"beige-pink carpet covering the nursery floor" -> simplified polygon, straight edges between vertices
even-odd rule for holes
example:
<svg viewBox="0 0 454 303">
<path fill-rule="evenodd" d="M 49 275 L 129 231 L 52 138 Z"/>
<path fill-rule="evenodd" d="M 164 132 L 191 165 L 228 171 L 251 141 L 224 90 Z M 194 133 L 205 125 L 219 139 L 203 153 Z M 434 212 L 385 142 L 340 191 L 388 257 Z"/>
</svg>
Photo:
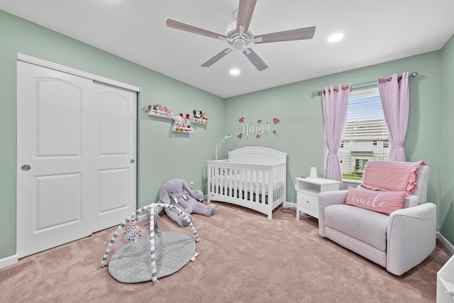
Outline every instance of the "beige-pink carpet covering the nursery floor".
<svg viewBox="0 0 454 303">
<path fill-rule="evenodd" d="M 122 284 L 100 267 L 109 228 L 0 270 L 0 302 L 435 302 L 436 272 L 451 255 L 437 243 L 396 277 L 321 238 L 314 218 L 216 204 L 214 216 L 194 215 L 199 257 L 157 285 Z M 192 234 L 167 216 L 160 228 Z"/>
</svg>

